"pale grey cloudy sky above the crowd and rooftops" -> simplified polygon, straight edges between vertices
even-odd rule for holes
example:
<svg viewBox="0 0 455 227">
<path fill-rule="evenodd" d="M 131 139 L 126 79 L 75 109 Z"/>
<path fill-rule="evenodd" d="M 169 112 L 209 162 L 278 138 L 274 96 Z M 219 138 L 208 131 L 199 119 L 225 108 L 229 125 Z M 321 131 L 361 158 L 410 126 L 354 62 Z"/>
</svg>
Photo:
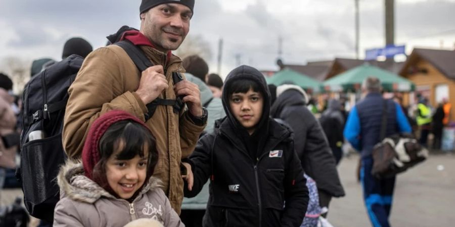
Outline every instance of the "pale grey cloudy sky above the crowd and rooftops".
<svg viewBox="0 0 455 227">
<path fill-rule="evenodd" d="M 73 36 L 97 48 L 122 25 L 139 28 L 140 0 L 0 0 L 0 61 L 61 59 Z M 384 1 L 359 0 L 360 52 L 382 47 Z M 223 76 L 240 63 L 275 70 L 280 37 L 287 64 L 354 58 L 354 0 L 196 0 L 189 36 L 210 45 L 216 71 L 217 43 L 223 39 Z M 395 42 L 455 46 L 455 0 L 395 0 Z M 1 64 L 0 64 L 1 66 Z M 1 70 L 1 68 L 0 68 Z"/>
</svg>

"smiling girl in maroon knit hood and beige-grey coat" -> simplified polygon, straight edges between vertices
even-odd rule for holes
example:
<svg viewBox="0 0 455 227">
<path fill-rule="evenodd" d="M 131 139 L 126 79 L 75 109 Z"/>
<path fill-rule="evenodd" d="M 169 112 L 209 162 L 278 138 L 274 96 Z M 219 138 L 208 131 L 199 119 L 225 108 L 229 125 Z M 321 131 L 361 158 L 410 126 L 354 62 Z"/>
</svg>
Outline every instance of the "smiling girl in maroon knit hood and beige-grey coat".
<svg viewBox="0 0 455 227">
<path fill-rule="evenodd" d="M 155 138 L 141 120 L 105 113 L 88 132 L 82 163 L 68 161 L 60 170 L 54 226 L 122 227 L 138 218 L 185 226 L 152 177 L 157 161 Z"/>
</svg>

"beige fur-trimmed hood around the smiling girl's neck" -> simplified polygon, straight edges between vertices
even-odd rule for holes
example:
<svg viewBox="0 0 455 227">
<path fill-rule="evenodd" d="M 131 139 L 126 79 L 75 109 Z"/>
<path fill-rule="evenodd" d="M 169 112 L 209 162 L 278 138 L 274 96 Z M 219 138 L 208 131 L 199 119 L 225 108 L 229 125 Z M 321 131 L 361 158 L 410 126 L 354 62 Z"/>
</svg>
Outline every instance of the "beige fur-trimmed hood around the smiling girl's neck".
<svg viewBox="0 0 455 227">
<path fill-rule="evenodd" d="M 57 183 L 60 187 L 60 197 L 69 197 L 72 200 L 95 203 L 101 197 L 116 199 L 115 196 L 104 190 L 94 181 L 84 176 L 84 169 L 80 160 L 69 160 L 60 168 L 57 177 Z M 161 181 L 158 178 L 150 177 L 148 183 L 142 188 L 136 196 L 140 198 L 148 191 L 161 187 Z"/>
</svg>

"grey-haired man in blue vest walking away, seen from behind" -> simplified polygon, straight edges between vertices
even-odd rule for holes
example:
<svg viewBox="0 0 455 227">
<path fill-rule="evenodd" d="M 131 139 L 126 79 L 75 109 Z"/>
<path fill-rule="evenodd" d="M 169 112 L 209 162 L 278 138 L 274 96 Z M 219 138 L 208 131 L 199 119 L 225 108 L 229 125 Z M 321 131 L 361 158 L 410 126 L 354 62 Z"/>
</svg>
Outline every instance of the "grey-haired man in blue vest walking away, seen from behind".
<svg viewBox="0 0 455 227">
<path fill-rule="evenodd" d="M 411 132 L 401 107 L 391 99 L 384 99 L 381 94 L 381 81 L 368 77 L 362 83 L 365 97 L 350 111 L 344 137 L 361 153 L 360 181 L 363 187 L 363 200 L 373 226 L 390 226 L 389 215 L 392 205 L 395 177 L 377 179 L 371 174 L 373 167 L 372 150 L 380 142 L 381 120 L 384 108 L 387 108 L 387 126 L 385 136 L 397 132 Z"/>
</svg>

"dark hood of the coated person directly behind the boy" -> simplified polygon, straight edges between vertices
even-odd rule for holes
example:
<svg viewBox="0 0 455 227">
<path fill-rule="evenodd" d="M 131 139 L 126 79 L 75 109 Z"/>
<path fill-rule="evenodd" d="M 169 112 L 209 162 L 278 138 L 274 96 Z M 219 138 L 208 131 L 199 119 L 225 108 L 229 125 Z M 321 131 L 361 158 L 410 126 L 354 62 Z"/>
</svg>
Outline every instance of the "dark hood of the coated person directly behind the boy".
<svg viewBox="0 0 455 227">
<path fill-rule="evenodd" d="M 292 105 L 306 105 L 304 95 L 295 89 L 286 90 L 283 94 L 278 96 L 274 105 L 271 107 L 270 116 L 272 118 L 279 118 L 283 108 Z"/>
</svg>

